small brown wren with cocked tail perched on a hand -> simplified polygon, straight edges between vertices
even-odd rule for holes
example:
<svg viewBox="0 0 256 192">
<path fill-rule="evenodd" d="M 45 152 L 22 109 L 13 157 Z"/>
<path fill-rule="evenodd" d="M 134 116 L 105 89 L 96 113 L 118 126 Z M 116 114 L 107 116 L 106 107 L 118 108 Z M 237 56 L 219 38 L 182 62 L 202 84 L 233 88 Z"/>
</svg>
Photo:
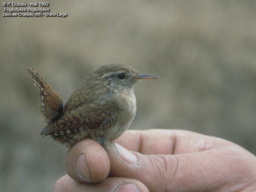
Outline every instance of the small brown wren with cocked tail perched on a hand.
<svg viewBox="0 0 256 192">
<path fill-rule="evenodd" d="M 104 65 L 84 79 L 63 107 L 59 93 L 35 69 L 28 68 L 28 75 L 41 96 L 39 106 L 46 127 L 40 135 L 51 135 L 67 147 L 91 138 L 105 149 L 132 123 L 136 113 L 135 82 L 160 78 L 140 74 L 128 65 Z"/>
</svg>

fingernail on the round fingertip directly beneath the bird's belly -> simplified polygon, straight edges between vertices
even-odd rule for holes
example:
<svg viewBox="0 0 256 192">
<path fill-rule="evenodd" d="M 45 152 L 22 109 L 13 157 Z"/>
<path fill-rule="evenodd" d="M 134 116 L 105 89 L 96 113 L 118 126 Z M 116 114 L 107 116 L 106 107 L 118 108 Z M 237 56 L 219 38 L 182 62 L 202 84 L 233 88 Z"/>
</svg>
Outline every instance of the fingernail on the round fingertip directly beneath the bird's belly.
<svg viewBox="0 0 256 192">
<path fill-rule="evenodd" d="M 89 167 L 85 158 L 84 153 L 81 153 L 76 159 L 76 169 L 78 174 L 87 181 L 91 181 L 91 175 Z"/>
</svg>

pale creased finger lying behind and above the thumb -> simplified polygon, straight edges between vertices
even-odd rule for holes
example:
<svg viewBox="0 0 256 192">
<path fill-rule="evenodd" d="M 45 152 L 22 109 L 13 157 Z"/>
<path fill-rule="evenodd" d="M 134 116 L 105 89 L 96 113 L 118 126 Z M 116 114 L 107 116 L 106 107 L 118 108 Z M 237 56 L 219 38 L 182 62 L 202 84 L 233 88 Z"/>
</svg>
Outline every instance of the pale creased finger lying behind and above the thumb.
<svg viewBox="0 0 256 192">
<path fill-rule="evenodd" d="M 124 148 L 144 155 L 173 155 L 208 150 L 234 143 L 186 130 L 128 130 L 115 140 Z"/>
</svg>

